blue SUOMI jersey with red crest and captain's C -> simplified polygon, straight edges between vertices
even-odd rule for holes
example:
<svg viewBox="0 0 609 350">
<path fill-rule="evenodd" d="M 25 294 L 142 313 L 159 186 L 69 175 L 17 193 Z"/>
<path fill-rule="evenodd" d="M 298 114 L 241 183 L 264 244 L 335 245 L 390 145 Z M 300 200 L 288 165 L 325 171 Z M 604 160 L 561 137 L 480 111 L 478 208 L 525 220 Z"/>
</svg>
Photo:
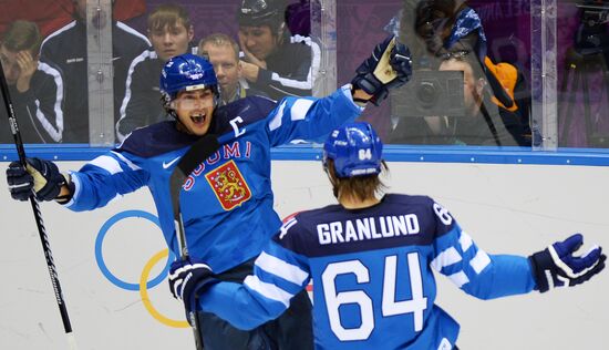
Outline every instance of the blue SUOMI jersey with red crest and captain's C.
<svg viewBox="0 0 609 350">
<path fill-rule="evenodd" d="M 188 176 L 180 193 L 190 256 L 216 272 L 258 256 L 281 226 L 272 209 L 270 148 L 291 140 L 322 142 L 361 111 L 349 85 L 323 99 L 276 103 L 248 96 L 217 107 L 209 132 L 219 135 L 220 147 Z M 117 148 L 71 173 L 75 192 L 66 206 L 90 210 L 147 186 L 167 245 L 179 256 L 169 176 L 196 138 L 178 132 L 175 122 L 135 130 Z"/>
</svg>

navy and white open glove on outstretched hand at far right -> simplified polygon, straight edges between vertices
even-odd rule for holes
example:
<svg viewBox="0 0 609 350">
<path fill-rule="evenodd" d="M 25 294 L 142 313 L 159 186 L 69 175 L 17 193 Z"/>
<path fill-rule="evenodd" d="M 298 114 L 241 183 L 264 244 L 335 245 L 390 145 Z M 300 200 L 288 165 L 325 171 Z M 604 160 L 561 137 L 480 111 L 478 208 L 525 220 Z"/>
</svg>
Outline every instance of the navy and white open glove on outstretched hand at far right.
<svg viewBox="0 0 609 350">
<path fill-rule="evenodd" d="M 605 268 L 607 256 L 599 246 L 592 247 L 584 256 L 574 256 L 582 244 L 584 237 L 576 234 L 529 257 L 540 292 L 582 284 Z"/>
</svg>

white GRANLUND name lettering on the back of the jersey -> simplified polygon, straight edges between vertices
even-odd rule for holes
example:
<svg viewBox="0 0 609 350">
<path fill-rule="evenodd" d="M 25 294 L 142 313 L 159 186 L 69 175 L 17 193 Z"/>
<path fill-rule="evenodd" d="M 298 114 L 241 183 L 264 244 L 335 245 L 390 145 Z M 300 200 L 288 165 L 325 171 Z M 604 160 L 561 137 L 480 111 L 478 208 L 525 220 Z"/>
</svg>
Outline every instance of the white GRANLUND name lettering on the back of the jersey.
<svg viewBox="0 0 609 350">
<path fill-rule="evenodd" d="M 414 214 L 365 217 L 317 225 L 320 245 L 416 235 L 420 229 L 419 218 Z"/>
</svg>

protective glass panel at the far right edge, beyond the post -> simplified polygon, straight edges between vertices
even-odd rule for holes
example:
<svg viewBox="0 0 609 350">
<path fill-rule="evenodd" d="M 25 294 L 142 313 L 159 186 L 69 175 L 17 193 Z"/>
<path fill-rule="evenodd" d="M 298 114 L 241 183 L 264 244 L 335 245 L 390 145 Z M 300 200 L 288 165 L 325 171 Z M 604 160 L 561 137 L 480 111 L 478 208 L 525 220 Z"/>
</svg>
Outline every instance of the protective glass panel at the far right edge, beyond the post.
<svg viewBox="0 0 609 350">
<path fill-rule="evenodd" d="M 558 145 L 609 147 L 609 1 L 557 1 Z"/>
</svg>

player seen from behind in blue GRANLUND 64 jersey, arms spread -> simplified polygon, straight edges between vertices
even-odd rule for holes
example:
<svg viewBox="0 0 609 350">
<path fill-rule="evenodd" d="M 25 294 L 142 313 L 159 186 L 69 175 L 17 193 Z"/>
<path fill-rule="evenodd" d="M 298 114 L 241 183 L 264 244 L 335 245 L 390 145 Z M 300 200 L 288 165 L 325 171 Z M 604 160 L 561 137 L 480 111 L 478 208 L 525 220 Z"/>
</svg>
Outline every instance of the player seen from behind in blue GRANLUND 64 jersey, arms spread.
<svg viewBox="0 0 609 350">
<path fill-rule="evenodd" d="M 174 262 L 174 296 L 250 329 L 281 315 L 312 280 L 316 349 L 448 350 L 456 348 L 460 326 L 434 303 L 433 271 L 493 299 L 575 286 L 605 267 L 600 247 L 574 255 L 581 235 L 528 258 L 489 255 L 432 198 L 379 199 L 382 147 L 370 124 L 333 131 L 323 167 L 339 204 L 288 219 L 242 285 L 218 281 L 204 260 Z"/>
</svg>

